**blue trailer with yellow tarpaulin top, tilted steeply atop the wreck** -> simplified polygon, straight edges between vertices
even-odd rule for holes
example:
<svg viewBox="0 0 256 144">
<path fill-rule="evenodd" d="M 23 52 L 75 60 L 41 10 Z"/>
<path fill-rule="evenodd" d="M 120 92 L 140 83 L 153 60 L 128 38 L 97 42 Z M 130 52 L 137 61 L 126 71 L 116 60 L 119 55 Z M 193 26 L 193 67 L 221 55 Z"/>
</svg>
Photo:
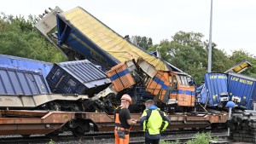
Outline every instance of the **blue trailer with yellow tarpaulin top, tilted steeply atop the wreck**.
<svg viewBox="0 0 256 144">
<path fill-rule="evenodd" d="M 80 7 L 57 14 L 57 29 L 59 45 L 65 43 L 70 49 L 105 66 L 142 57 L 157 70 L 170 69 L 163 60 L 125 40 Z"/>
</svg>

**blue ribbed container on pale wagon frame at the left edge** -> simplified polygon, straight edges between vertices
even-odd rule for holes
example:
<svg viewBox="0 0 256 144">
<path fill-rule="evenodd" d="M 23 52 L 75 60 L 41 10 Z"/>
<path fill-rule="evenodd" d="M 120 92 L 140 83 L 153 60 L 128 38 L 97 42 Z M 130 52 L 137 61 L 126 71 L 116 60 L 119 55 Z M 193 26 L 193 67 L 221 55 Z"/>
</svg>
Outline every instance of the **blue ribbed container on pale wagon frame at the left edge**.
<svg viewBox="0 0 256 144">
<path fill-rule="evenodd" d="M 10 57 L 10 56 L 8 56 Z M 3 58 L 2 58 L 3 59 Z M 21 59 L 21 58 L 20 58 Z M 26 59 L 25 59 L 26 60 Z M 71 101 L 74 106 L 82 107 L 79 100 L 88 100 L 88 95 L 52 94 L 49 85 L 38 68 L 44 64 L 28 60 L 26 64 L 34 64 L 33 69 L 23 67 L 24 61 L 5 59 L 6 65 L 0 65 L 0 108 L 1 109 L 60 109 L 56 101 Z M 3 62 L 3 61 L 1 61 Z M 15 65 L 15 66 L 14 66 Z M 63 109 L 63 108 L 62 108 Z M 79 108 L 77 108 L 79 109 Z M 60 109 L 61 110 L 61 109 Z"/>
</svg>

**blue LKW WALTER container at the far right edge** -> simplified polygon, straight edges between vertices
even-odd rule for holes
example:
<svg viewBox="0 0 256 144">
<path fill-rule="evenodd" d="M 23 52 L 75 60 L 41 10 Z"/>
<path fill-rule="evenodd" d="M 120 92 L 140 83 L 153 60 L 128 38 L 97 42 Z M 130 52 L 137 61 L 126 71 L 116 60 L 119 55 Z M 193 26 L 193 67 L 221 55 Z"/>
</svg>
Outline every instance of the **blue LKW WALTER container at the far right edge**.
<svg viewBox="0 0 256 144">
<path fill-rule="evenodd" d="M 228 89 L 230 100 L 236 103 L 236 107 L 253 109 L 253 102 L 256 101 L 256 78 L 229 72 Z"/>
</svg>

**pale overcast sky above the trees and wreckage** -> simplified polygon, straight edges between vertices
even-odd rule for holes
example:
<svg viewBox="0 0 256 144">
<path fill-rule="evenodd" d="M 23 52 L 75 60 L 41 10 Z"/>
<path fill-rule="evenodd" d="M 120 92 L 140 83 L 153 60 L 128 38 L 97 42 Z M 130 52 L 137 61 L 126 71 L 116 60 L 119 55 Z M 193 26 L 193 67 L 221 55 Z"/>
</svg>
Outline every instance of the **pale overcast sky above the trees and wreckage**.
<svg viewBox="0 0 256 144">
<path fill-rule="evenodd" d="M 82 7 L 121 36 L 171 40 L 178 31 L 201 32 L 209 39 L 211 0 L 0 0 L 0 11 L 38 15 L 59 6 Z M 212 42 L 231 54 L 244 49 L 256 55 L 256 0 L 213 0 Z M 204 39 L 204 40 L 205 40 Z"/>
</svg>

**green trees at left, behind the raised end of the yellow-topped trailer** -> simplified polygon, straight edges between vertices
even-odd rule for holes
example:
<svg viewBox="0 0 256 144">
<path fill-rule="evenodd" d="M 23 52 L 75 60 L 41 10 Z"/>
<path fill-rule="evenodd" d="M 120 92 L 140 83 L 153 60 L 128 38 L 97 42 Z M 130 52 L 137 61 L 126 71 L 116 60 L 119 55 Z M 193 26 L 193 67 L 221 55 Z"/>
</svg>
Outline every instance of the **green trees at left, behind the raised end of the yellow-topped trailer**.
<svg viewBox="0 0 256 144">
<path fill-rule="evenodd" d="M 51 43 L 33 27 L 35 20 L 22 16 L 1 14 L 0 16 L 0 54 L 15 55 L 49 62 L 61 62 L 61 55 Z"/>
</svg>

